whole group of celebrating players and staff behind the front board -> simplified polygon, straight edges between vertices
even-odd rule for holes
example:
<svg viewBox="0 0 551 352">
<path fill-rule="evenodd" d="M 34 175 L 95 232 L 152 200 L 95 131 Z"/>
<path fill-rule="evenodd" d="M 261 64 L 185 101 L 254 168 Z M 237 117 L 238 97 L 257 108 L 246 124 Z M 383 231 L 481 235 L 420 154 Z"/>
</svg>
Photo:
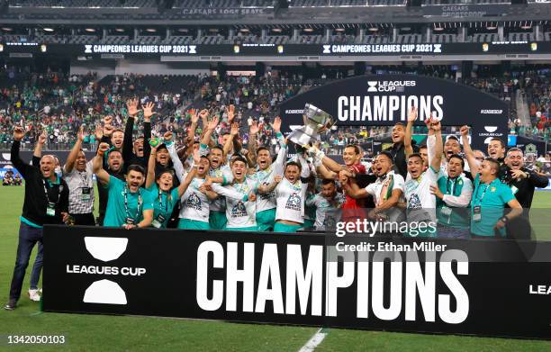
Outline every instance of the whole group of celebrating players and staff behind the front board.
<svg viewBox="0 0 551 352">
<path fill-rule="evenodd" d="M 40 300 L 42 228 L 46 224 L 88 225 L 136 229 L 231 230 L 297 232 L 335 229 L 338 222 L 357 220 L 436 224 L 419 234 L 448 239 L 530 239 L 528 209 L 534 190 L 545 187 L 546 176 L 524 167 L 521 149 L 507 150 L 492 139 L 486 151 L 473 150 L 469 128 L 444 140 L 441 124 L 430 116 L 426 144 L 417 148 L 412 128 L 415 107 L 407 124 L 393 126 L 393 146 L 380 152 L 369 167 L 363 151 L 348 145 L 344 164 L 325 155 L 316 143 L 294 145 L 281 133 L 282 121 L 271 126 L 277 148 L 259 145 L 257 122 L 249 124 L 243 148 L 235 108 L 226 109 L 230 131 L 213 138 L 219 117 L 208 110 L 194 113 L 185 140 L 169 130 L 152 136 L 154 104 L 127 102 L 124 131 L 104 117 L 95 158 L 82 150 L 85 133 L 65 164 L 42 155 L 46 137 L 36 143 L 32 165 L 20 158 L 26 133 L 14 128 L 11 160 L 25 181 L 19 245 L 10 300 L 13 310 L 23 287 L 32 248 L 38 255 L 29 295 Z M 143 136 L 133 139 L 139 114 Z M 199 126 L 201 125 L 201 133 Z M 292 156 L 292 158 L 289 158 Z M 94 216 L 94 176 L 99 217 Z M 395 234 L 394 234 L 395 235 Z M 208 233 L 205 233 L 208 236 Z"/>
</svg>

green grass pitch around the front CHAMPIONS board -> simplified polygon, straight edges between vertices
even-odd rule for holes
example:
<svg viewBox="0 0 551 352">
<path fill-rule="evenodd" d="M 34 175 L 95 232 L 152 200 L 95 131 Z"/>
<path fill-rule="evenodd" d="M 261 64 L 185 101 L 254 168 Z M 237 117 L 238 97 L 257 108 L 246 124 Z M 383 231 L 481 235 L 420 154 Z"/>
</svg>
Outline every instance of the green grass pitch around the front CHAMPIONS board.
<svg viewBox="0 0 551 352">
<path fill-rule="evenodd" d="M 18 218 L 23 187 L 0 187 L 0 303 L 8 299 L 14 270 Z M 551 192 L 535 195 L 534 207 L 551 208 Z M 545 224 L 543 224 L 545 225 Z M 543 226 L 542 225 L 542 226 Z M 551 228 L 549 228 L 551 229 Z M 545 229 L 542 227 L 539 232 Z M 547 231 L 546 231 L 547 232 Z M 547 239 L 551 239 L 548 231 Z M 538 239 L 542 239 L 538 233 Z M 33 259 L 32 259 L 33 260 Z M 29 267 L 31 267 L 30 265 Z M 176 320 L 40 313 L 39 305 L 23 296 L 15 311 L 0 310 L 0 350 L 179 350 L 179 351 L 298 351 L 317 328 L 236 324 L 221 321 Z M 549 351 L 551 342 L 508 338 L 329 329 L 316 351 Z M 50 347 L 2 345 L 6 334 L 65 335 L 67 343 Z M 4 336 L 3 336 L 4 335 Z"/>
</svg>

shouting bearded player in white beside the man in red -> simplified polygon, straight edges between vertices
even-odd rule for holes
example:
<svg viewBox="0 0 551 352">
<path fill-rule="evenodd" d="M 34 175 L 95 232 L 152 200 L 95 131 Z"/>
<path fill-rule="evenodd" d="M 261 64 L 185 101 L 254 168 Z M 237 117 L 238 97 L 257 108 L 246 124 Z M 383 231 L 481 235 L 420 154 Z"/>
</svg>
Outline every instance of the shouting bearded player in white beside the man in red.
<svg viewBox="0 0 551 352">
<path fill-rule="evenodd" d="M 403 202 L 403 177 L 393 170 L 393 156 L 388 151 L 383 151 L 376 156 L 373 170 L 377 180 L 359 188 L 356 185 L 343 183 L 343 188 L 352 198 L 374 197 L 375 208 L 369 212 L 369 218 L 400 222 L 403 220 L 403 212 L 397 205 Z"/>
</svg>

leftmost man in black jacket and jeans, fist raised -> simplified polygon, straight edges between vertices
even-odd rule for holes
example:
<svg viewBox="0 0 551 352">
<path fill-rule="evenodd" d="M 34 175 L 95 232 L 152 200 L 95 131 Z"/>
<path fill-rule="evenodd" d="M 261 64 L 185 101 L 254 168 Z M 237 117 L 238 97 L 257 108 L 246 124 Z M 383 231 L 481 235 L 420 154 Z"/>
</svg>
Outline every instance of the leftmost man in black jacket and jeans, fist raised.
<svg viewBox="0 0 551 352">
<path fill-rule="evenodd" d="M 68 221 L 68 185 L 55 174 L 55 159 L 50 155 L 42 157 L 40 168 L 25 163 L 19 156 L 24 135 L 25 131 L 21 127 L 15 127 L 11 160 L 25 179 L 25 196 L 10 298 L 5 305 L 5 310 L 8 311 L 14 310 L 17 306 L 32 248 L 37 242 L 42 242 L 42 226 Z M 37 262 L 39 257 L 42 257 L 41 247 L 37 253 Z M 37 285 L 42 268 L 41 263 L 37 262 L 33 266 L 32 273 L 36 281 L 31 284 L 31 290 L 35 290 L 33 293 L 38 291 Z"/>
</svg>

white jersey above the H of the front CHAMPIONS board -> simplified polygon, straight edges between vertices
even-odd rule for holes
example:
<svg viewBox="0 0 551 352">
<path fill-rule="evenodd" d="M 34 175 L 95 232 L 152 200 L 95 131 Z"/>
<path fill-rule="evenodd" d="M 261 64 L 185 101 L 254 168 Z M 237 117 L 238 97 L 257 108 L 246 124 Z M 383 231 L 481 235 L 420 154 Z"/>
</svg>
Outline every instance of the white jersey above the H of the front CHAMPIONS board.
<svg viewBox="0 0 551 352">
<path fill-rule="evenodd" d="M 257 204 L 245 201 L 248 194 L 257 192 L 257 183 L 249 178 L 241 184 L 212 184 L 212 191 L 221 194 L 226 199 L 226 227 L 229 229 L 257 226 Z"/>
</svg>

